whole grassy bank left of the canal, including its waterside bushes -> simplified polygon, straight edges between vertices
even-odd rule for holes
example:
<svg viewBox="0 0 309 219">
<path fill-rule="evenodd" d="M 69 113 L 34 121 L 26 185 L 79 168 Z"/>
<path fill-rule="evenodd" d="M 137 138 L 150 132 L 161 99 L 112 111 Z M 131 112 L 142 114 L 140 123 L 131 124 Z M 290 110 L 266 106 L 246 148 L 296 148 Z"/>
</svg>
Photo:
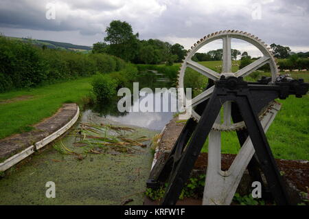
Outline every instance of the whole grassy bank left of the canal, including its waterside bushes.
<svg viewBox="0 0 309 219">
<path fill-rule="evenodd" d="M 32 130 L 31 125 L 56 113 L 63 103 L 74 102 L 82 106 L 89 99 L 106 103 L 109 95 L 116 95 L 117 89 L 132 82 L 136 75 L 137 69 L 128 64 L 121 71 L 0 93 L 0 139 Z M 113 80 L 113 86 L 106 87 L 108 81 L 100 80 L 102 78 Z"/>
</svg>

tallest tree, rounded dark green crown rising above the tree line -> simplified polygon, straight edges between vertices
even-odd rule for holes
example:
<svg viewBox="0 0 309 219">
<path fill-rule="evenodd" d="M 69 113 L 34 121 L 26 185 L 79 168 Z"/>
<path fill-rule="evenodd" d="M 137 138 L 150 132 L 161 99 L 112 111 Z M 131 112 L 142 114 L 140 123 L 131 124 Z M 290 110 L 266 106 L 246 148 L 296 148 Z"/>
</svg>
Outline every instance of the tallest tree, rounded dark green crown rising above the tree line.
<svg viewBox="0 0 309 219">
<path fill-rule="evenodd" d="M 138 36 L 133 34 L 132 27 L 126 21 L 112 21 L 105 30 L 107 36 L 104 41 L 109 43 L 108 54 L 118 56 L 126 61 L 133 60 L 137 54 Z"/>
</svg>

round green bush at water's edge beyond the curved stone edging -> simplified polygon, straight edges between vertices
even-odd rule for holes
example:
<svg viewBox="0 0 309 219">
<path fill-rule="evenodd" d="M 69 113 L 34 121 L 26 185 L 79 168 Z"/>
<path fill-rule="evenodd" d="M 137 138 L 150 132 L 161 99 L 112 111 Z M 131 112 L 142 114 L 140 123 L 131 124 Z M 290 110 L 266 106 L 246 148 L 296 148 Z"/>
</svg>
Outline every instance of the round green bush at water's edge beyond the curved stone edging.
<svg viewBox="0 0 309 219">
<path fill-rule="evenodd" d="M 116 94 L 117 81 L 106 74 L 98 74 L 91 83 L 92 91 L 99 102 L 111 100 Z"/>
</svg>

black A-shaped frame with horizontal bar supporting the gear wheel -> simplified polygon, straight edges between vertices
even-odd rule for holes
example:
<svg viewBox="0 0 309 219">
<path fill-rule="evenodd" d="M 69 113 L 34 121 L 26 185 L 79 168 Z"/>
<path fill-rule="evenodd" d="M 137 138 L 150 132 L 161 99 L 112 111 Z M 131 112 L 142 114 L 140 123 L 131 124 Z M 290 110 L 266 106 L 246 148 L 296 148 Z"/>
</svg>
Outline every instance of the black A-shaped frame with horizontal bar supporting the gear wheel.
<svg viewBox="0 0 309 219">
<path fill-rule="evenodd" d="M 258 83 L 248 83 L 244 82 L 242 78 L 229 77 L 226 79 L 224 76 L 215 82 L 215 89 L 211 98 L 196 106 L 195 111 L 201 115 L 201 119 L 198 123 L 192 118 L 188 119 L 163 168 L 155 178 L 148 179 L 148 187 L 156 187 L 168 181 L 168 187 L 161 200 L 161 205 L 176 204 L 181 189 L 190 177 L 194 163 L 218 113 L 220 113 L 220 108 L 227 101 L 233 102 L 233 122 L 243 120 L 247 126 L 247 130 L 237 132 L 240 145 L 250 136 L 255 148 L 256 158 L 252 159 L 249 165 L 251 174 L 262 180 L 258 172 L 258 168 L 260 168 L 277 205 L 291 204 L 286 192 L 286 185 L 284 185 L 279 174 L 260 124 L 258 113 L 277 97 L 285 99 L 290 94 L 301 97 L 301 95 L 307 93 L 308 84 L 304 83 L 304 80 L 286 79 L 271 85 L 268 85 L 268 83 L 269 78 L 262 78 Z"/>
</svg>

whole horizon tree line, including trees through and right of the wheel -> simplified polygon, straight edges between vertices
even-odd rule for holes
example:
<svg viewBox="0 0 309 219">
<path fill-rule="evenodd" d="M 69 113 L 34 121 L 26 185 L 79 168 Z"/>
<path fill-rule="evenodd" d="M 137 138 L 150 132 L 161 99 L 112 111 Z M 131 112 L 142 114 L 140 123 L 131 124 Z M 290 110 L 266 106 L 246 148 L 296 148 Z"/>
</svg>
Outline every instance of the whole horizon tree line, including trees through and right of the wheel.
<svg viewBox="0 0 309 219">
<path fill-rule="evenodd" d="M 132 26 L 126 21 L 111 21 L 106 27 L 106 37 L 103 42 L 93 44 L 92 52 L 106 53 L 117 56 L 135 64 L 162 64 L 172 65 L 173 62 L 181 62 L 187 54 L 187 50 L 175 43 L 171 45 L 158 39 L 139 40 L 139 34 L 133 33 Z M 271 51 L 276 58 L 289 58 L 294 55 L 289 47 L 271 44 Z M 242 54 L 237 49 L 231 49 L 233 60 L 238 56 L 243 59 L 254 59 L 247 51 Z M 298 53 L 299 58 L 308 58 L 309 52 Z M 207 53 L 196 53 L 192 57 L 196 62 L 222 60 L 222 49 L 208 51 Z M 248 61 L 247 61 L 248 62 Z"/>
</svg>

